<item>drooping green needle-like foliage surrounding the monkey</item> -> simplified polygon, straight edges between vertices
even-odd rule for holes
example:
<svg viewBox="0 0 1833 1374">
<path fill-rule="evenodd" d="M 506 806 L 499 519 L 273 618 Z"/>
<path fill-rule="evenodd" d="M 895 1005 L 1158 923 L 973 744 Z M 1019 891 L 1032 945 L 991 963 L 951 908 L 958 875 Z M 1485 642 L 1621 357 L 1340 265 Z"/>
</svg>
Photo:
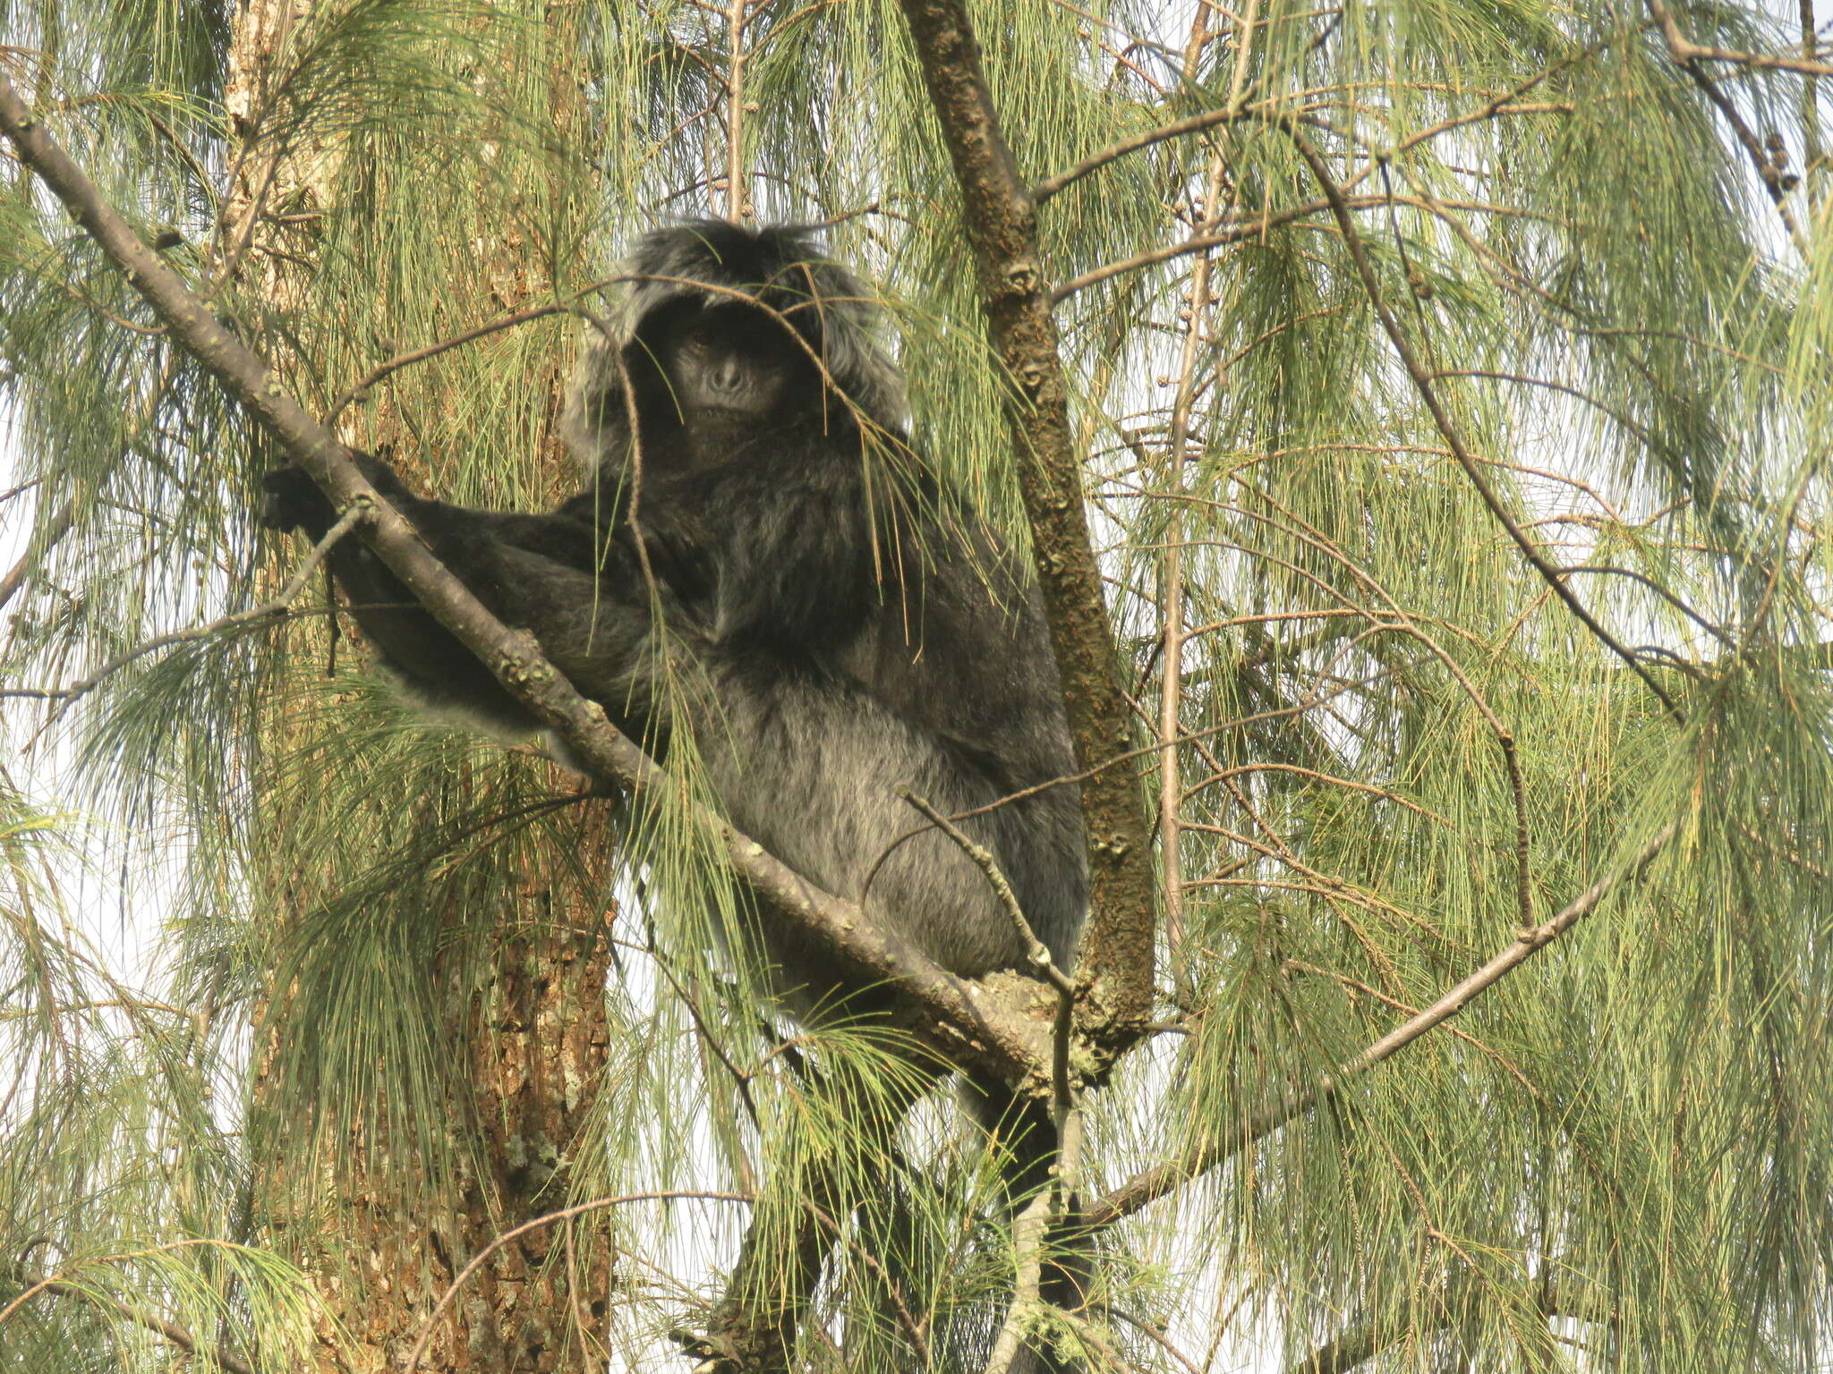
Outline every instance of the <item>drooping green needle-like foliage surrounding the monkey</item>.
<svg viewBox="0 0 1833 1374">
<path fill-rule="evenodd" d="M 1795 15 L 1672 13 L 1699 46 L 1800 55 Z M 737 123 L 750 207 L 830 225 L 896 321 L 915 434 L 1025 548 L 1006 387 L 898 7 L 742 16 L 742 101 L 724 7 L 687 0 L 321 0 L 251 108 L 231 108 L 216 5 L 0 0 L 0 66 L 319 412 L 510 311 L 605 308 L 588 288 L 618 244 L 731 209 Z M 1059 1339 L 1102 1370 L 1824 1367 L 1815 81 L 1688 70 L 1631 4 L 973 18 L 1030 178 L 1234 112 L 1039 207 L 1048 278 L 1091 278 L 1058 321 L 1140 795 L 1157 806 L 1164 768 L 1180 793 L 1162 1022 L 1089 1094 L 1083 1187 L 1223 1156 L 1103 1235 L 1098 1301 Z M 269 170 L 286 194 L 225 229 L 233 187 Z M 1169 253 L 1193 234 L 1217 238 L 1195 297 L 1201 255 Z M 451 500 L 552 502 L 579 328 L 557 310 L 392 372 L 343 432 Z M 572 797 L 528 742 L 414 716 L 334 649 L 317 579 L 290 616 L 114 667 L 258 605 L 302 550 L 253 528 L 268 443 L 16 161 L 0 416 L 24 566 L 0 643 L 0 1369 L 306 1359 L 312 1275 L 249 1200 L 284 1158 L 297 1224 L 339 1141 L 383 1127 L 414 1160 L 405 1200 L 456 1185 L 467 1053 L 438 1002 L 488 976 L 491 932 L 555 918 L 522 901 L 530 870 L 574 911 L 616 909 L 610 1066 L 554 1205 L 647 1198 L 607 1209 L 620 1359 L 667 1367 L 662 1332 L 704 1314 L 746 1216 L 792 1216 L 836 1169 L 871 1202 L 808 1367 L 984 1356 L 1010 1257 L 981 1138 L 884 1028 L 797 1031 L 768 1004 L 691 749 L 667 795 Z M 1448 429 L 1633 663 L 1521 557 Z M 587 819 L 616 837 L 609 876 L 579 854 Z M 1459 1017 L 1340 1072 L 1600 881 L 1595 914 Z M 110 883 L 125 918 L 97 907 Z M 902 1130 L 862 1130 L 862 1096 L 924 1092 Z M 196 1363 L 148 1317 L 198 1334 Z"/>
</svg>

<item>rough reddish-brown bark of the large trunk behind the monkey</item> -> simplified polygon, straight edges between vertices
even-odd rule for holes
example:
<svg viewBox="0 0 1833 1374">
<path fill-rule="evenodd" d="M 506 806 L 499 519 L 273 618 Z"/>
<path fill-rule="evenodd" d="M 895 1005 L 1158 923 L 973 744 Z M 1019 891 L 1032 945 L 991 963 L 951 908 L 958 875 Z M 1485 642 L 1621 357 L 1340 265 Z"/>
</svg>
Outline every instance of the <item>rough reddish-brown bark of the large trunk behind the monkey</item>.
<svg viewBox="0 0 1833 1374">
<path fill-rule="evenodd" d="M 301 269 L 293 264 L 315 256 L 313 216 L 337 213 L 341 150 L 323 143 L 277 145 L 260 119 L 275 64 L 284 60 L 290 37 L 306 18 L 308 5 L 297 0 L 246 4 L 231 37 L 225 92 L 242 145 L 216 266 L 220 273 L 253 275 L 280 308 L 299 300 Z M 264 218 L 275 198 L 297 213 L 286 220 Z M 528 266 L 506 264 L 530 256 L 519 249 L 510 242 L 475 242 L 477 278 L 500 284 L 506 266 Z M 508 275 L 521 299 L 506 304 L 526 304 L 535 295 L 532 277 L 539 273 Z M 559 361 L 544 383 L 559 387 Z M 390 438 L 396 429 L 401 427 L 379 403 L 370 412 L 370 431 Z M 422 471 L 427 458 L 411 443 L 400 443 L 396 456 L 403 467 Z M 302 652 L 321 650 L 315 639 L 293 643 L 302 643 Z M 288 727 L 277 722 L 273 729 Z M 609 854 L 609 848 L 610 835 L 599 821 L 583 837 L 581 852 Z M 566 868 L 557 856 L 548 865 L 552 872 Z M 482 978 L 469 980 L 449 967 L 438 984 L 436 1015 L 445 1042 L 466 1055 L 451 1075 L 447 1119 L 469 1134 L 453 1150 L 458 1169 L 445 1194 L 438 1196 L 427 1180 L 400 1176 L 420 1163 L 401 1147 L 407 1123 L 394 1130 L 379 1119 L 365 1141 L 332 1143 L 343 1149 L 341 1167 L 312 1178 L 306 1193 L 301 1161 L 288 1158 L 284 1138 L 275 1141 L 266 1180 L 275 1240 L 308 1266 L 323 1297 L 326 1319 L 317 1363 L 324 1374 L 396 1369 L 434 1303 L 475 1253 L 568 1198 L 566 1161 L 605 1070 L 607 920 L 539 870 L 528 874 L 519 898 L 504 912 L 488 954 L 473 965 Z M 288 1026 L 284 995 L 275 1009 L 273 1035 L 304 1033 L 306 1028 Z M 262 1085 L 268 1097 L 279 1086 L 266 1077 Z M 257 1112 L 273 1121 L 291 1116 L 277 1101 L 257 1101 Z M 319 1204 L 310 1215 L 299 1209 L 308 1196 Z M 601 1370 L 610 1260 L 603 1215 L 541 1227 L 495 1249 L 462 1299 L 434 1323 L 422 1369 L 433 1374 Z"/>
</svg>

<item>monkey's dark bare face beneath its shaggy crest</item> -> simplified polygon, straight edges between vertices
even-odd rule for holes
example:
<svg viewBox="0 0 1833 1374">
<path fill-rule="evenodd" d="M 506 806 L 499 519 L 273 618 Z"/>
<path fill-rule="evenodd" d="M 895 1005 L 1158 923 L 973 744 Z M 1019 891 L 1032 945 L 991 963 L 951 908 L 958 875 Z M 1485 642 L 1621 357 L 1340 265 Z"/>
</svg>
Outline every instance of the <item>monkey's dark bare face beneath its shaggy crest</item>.
<svg viewBox="0 0 1833 1374">
<path fill-rule="evenodd" d="M 638 333 L 660 372 L 664 410 L 680 423 L 783 423 L 819 398 L 803 343 L 777 319 L 742 304 L 682 300 Z"/>
</svg>

